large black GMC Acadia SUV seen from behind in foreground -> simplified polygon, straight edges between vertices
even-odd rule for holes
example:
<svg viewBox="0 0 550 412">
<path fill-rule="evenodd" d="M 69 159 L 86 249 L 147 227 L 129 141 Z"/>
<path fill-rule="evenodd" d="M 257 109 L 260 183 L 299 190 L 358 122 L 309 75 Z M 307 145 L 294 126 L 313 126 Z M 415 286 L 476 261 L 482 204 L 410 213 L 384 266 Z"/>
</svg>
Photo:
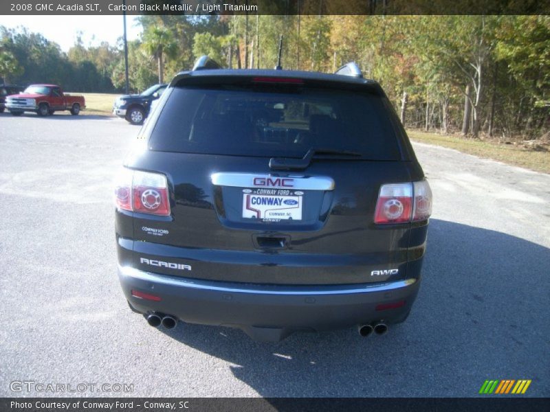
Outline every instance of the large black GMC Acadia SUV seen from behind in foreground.
<svg viewBox="0 0 550 412">
<path fill-rule="evenodd" d="M 404 321 L 432 194 L 377 82 L 219 69 L 170 82 L 115 181 L 118 275 L 150 325 L 295 331 Z"/>
</svg>

